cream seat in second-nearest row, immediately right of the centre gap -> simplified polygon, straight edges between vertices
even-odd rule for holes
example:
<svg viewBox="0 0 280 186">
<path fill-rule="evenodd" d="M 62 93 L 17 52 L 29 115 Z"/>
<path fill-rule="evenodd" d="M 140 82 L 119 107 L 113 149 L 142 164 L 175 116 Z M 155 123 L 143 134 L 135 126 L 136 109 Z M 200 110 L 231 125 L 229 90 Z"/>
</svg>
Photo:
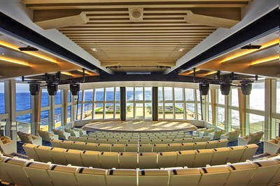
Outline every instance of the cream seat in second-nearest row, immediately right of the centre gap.
<svg viewBox="0 0 280 186">
<path fill-rule="evenodd" d="M 139 169 L 155 169 L 157 160 L 157 153 L 139 153 Z"/>
</svg>

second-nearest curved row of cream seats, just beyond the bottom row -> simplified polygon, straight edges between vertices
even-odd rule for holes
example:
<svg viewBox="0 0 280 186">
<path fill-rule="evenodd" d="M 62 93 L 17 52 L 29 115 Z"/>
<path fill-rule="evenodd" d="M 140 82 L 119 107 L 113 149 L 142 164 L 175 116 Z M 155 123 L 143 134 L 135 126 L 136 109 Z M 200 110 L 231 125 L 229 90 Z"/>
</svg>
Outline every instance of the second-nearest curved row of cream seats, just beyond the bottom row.
<svg viewBox="0 0 280 186">
<path fill-rule="evenodd" d="M 155 169 L 174 166 L 200 167 L 251 160 L 258 146 L 233 146 L 202 150 L 180 150 L 162 153 L 113 153 L 90 150 L 69 150 L 49 146 L 23 145 L 30 159 L 55 164 L 72 164 L 111 169 Z"/>
</svg>

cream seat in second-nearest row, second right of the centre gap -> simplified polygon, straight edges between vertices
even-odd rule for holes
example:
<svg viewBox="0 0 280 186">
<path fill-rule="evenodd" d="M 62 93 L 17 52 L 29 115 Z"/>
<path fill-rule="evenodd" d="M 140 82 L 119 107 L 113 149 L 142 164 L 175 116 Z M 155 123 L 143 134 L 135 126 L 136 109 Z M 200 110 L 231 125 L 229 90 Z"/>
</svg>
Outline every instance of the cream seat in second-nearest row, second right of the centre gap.
<svg viewBox="0 0 280 186">
<path fill-rule="evenodd" d="M 158 153 L 158 168 L 174 167 L 177 162 L 176 152 L 162 152 Z"/>
</svg>

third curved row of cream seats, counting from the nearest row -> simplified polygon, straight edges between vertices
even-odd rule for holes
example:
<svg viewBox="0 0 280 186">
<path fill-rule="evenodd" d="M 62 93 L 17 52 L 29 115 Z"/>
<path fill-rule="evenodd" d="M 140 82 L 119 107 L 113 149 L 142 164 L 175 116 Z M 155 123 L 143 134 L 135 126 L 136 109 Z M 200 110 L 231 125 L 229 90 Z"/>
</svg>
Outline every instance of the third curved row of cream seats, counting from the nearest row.
<svg viewBox="0 0 280 186">
<path fill-rule="evenodd" d="M 50 141 L 52 147 L 76 149 L 76 150 L 94 150 L 100 152 L 134 152 L 134 153 L 160 153 L 179 150 L 197 150 L 197 149 L 211 149 L 228 146 L 228 139 L 195 142 L 195 143 L 181 143 L 181 144 L 96 144 L 85 143 L 82 141 L 65 141 L 52 139 Z"/>
</svg>

